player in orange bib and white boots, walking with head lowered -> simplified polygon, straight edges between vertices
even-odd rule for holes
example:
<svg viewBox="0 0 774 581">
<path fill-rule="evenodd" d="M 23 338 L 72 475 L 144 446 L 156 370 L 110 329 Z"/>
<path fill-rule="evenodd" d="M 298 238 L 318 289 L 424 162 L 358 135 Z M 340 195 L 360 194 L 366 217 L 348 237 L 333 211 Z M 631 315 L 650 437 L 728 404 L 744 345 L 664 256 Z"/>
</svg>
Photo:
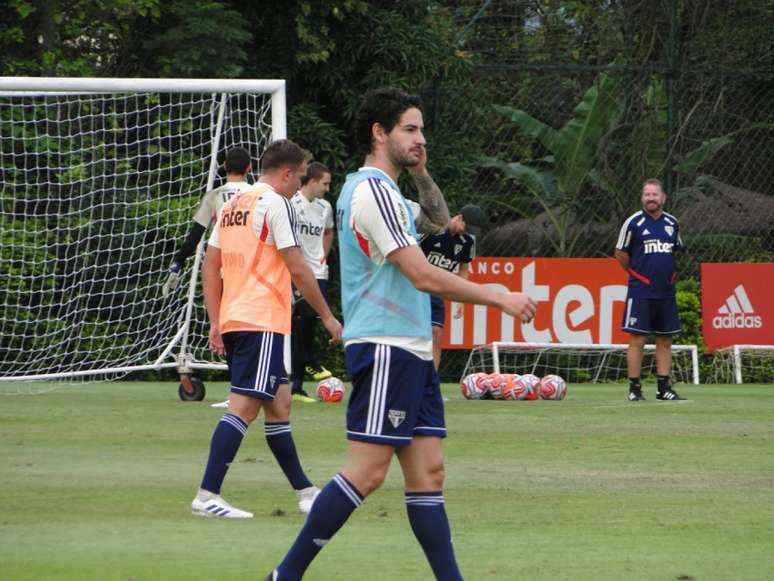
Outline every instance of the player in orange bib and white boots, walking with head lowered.
<svg viewBox="0 0 774 581">
<path fill-rule="evenodd" d="M 304 474 L 290 429 L 290 388 L 283 357 L 290 334 L 291 280 L 319 313 L 331 340 L 341 324 L 325 302 L 304 261 L 290 198 L 306 174 L 309 153 L 292 141 L 272 143 L 262 158 L 255 186 L 223 207 L 210 236 L 202 267 L 210 348 L 225 354 L 231 377 L 229 411 L 212 434 L 193 514 L 251 518 L 220 496 L 228 467 L 247 428 L 263 408 L 264 433 L 293 489 L 299 510 L 309 512 L 319 493 Z M 221 281 L 222 273 L 222 281 Z"/>
</svg>

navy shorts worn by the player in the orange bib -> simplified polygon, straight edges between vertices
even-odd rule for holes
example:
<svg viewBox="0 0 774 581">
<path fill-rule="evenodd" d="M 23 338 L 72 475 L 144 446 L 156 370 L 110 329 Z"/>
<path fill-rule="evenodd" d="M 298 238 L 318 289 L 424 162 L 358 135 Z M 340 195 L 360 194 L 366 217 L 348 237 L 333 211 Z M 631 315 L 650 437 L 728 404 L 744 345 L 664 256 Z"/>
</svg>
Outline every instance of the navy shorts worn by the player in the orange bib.
<svg viewBox="0 0 774 581">
<path fill-rule="evenodd" d="M 288 382 L 285 370 L 285 335 L 269 331 L 234 331 L 223 334 L 231 392 L 259 399 L 274 399 Z"/>
</svg>

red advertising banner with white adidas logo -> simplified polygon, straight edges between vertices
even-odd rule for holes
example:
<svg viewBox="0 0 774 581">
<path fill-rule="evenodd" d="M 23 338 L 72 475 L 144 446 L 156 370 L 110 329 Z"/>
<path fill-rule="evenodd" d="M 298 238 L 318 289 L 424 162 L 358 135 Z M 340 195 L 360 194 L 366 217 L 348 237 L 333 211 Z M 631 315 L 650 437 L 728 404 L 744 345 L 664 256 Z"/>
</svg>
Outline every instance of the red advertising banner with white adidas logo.
<svg viewBox="0 0 774 581">
<path fill-rule="evenodd" d="M 701 311 L 707 348 L 774 345 L 772 297 L 772 262 L 703 263 Z"/>
</svg>

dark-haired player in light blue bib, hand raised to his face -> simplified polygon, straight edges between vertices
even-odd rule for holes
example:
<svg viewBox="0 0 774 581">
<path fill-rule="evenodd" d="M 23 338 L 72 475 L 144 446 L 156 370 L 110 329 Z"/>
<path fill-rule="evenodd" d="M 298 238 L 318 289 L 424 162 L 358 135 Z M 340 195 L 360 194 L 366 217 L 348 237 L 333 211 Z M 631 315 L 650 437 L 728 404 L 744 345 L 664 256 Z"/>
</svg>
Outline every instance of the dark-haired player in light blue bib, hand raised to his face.
<svg viewBox="0 0 774 581">
<path fill-rule="evenodd" d="M 449 220 L 440 190 L 419 172 L 419 216 L 401 195 L 404 168 L 424 168 L 418 97 L 376 89 L 363 98 L 356 143 L 365 155 L 337 202 L 344 312 L 343 338 L 353 390 L 347 409 L 347 458 L 322 490 L 280 565 L 266 578 L 301 579 L 312 559 L 384 481 L 393 455 L 403 471 L 411 528 L 436 579 L 462 579 L 443 498 L 446 436 L 443 398 L 433 366 L 430 297 L 491 305 L 531 321 L 535 302 L 498 293 L 431 265 L 417 225 L 442 230 Z M 429 181 L 428 181 L 429 180 Z M 341 577 L 351 572 L 341 572 Z M 362 576 L 362 575 L 361 575 Z"/>
</svg>

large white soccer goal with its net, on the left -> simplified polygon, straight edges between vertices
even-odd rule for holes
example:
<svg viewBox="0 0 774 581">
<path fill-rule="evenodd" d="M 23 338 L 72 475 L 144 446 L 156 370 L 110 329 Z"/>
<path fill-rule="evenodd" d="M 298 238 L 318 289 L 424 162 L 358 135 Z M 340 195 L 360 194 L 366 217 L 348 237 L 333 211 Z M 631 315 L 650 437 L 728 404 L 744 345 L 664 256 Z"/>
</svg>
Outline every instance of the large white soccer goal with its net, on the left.
<svg viewBox="0 0 774 581">
<path fill-rule="evenodd" d="M 204 240 L 161 287 L 225 151 L 285 134 L 282 80 L 0 78 L 0 381 L 225 369 Z"/>
</svg>

